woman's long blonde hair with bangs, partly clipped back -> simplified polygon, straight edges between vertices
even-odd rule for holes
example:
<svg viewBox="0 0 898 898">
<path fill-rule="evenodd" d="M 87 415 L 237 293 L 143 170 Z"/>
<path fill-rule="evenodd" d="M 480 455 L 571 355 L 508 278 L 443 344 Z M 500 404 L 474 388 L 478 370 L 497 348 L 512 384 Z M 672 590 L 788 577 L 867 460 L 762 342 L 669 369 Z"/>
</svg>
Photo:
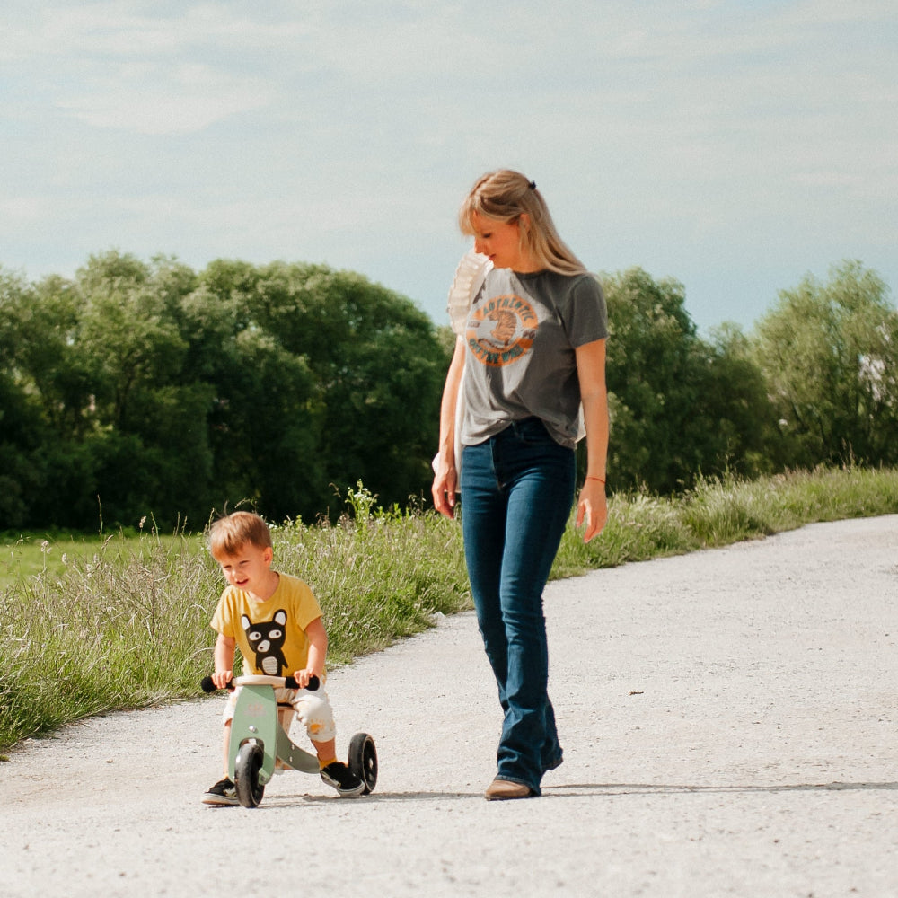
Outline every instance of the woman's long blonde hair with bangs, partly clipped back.
<svg viewBox="0 0 898 898">
<path fill-rule="evenodd" d="M 585 265 L 559 237 L 549 207 L 532 180 L 521 172 L 499 169 L 481 176 L 462 202 L 458 225 L 462 233 L 473 235 L 472 217 L 492 218 L 506 225 L 527 216 L 529 227 L 522 226 L 521 248 L 541 268 L 562 275 L 584 274 Z"/>
</svg>

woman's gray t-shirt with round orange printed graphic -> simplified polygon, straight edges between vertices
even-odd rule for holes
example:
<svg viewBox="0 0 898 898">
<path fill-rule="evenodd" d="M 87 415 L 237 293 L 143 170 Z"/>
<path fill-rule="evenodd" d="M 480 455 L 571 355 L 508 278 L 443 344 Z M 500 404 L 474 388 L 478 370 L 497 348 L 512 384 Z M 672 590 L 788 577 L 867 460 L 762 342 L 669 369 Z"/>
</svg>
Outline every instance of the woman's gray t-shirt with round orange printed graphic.
<svg viewBox="0 0 898 898">
<path fill-rule="evenodd" d="M 490 270 L 464 332 L 462 444 L 536 417 L 559 444 L 577 445 L 574 350 L 607 336 L 608 313 L 593 275 Z"/>
</svg>

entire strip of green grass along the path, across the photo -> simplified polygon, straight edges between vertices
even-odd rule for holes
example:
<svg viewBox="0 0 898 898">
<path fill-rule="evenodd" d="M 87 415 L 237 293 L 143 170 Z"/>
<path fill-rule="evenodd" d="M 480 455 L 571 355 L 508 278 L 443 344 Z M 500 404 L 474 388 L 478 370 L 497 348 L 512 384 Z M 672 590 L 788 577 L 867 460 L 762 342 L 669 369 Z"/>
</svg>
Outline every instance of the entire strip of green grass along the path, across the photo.
<svg viewBox="0 0 898 898">
<path fill-rule="evenodd" d="M 329 663 L 470 607 L 458 524 L 383 512 L 358 489 L 334 526 L 273 528 L 276 568 L 324 609 Z M 584 546 L 573 528 L 553 577 L 762 537 L 814 521 L 898 512 L 898 471 L 705 481 L 690 494 L 612 497 Z M 77 718 L 194 696 L 212 666 L 223 581 L 200 535 L 13 536 L 0 566 L 0 749 Z M 2 757 L 2 755 L 0 755 Z"/>
</svg>

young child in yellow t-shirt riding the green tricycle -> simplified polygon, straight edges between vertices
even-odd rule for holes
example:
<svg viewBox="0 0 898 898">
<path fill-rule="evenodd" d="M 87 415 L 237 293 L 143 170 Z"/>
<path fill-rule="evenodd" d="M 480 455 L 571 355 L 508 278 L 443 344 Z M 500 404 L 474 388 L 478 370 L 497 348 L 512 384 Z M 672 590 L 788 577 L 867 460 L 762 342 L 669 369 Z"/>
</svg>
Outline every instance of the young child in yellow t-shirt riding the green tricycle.
<svg viewBox="0 0 898 898">
<path fill-rule="evenodd" d="M 277 690 L 278 704 L 287 706 L 281 711 L 281 726 L 289 728 L 295 711 L 318 753 L 321 779 L 341 796 L 361 795 L 365 783 L 337 760 L 333 710 L 324 691 L 328 635 L 312 590 L 297 577 L 271 569 L 271 533 L 259 515 L 238 511 L 217 520 L 209 534 L 209 549 L 228 583 L 211 621 L 218 633 L 212 682 L 224 689 L 231 680 L 235 647 L 240 649 L 244 674 L 292 675 L 302 687 L 318 677 L 321 686 L 316 691 Z M 230 694 L 223 715 L 225 778 L 203 796 L 207 805 L 239 804 L 227 770 L 239 689 Z"/>
</svg>

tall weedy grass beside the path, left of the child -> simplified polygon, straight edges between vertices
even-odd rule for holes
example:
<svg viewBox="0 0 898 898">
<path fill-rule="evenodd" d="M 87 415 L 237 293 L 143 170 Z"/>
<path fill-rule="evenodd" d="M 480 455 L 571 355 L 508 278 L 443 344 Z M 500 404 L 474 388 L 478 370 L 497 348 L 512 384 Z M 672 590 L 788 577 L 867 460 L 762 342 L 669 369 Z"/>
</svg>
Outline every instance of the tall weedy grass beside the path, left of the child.
<svg viewBox="0 0 898 898">
<path fill-rule="evenodd" d="M 216 581 L 197 541 L 110 537 L 0 593 L 0 745 L 196 689 Z"/>
</svg>

